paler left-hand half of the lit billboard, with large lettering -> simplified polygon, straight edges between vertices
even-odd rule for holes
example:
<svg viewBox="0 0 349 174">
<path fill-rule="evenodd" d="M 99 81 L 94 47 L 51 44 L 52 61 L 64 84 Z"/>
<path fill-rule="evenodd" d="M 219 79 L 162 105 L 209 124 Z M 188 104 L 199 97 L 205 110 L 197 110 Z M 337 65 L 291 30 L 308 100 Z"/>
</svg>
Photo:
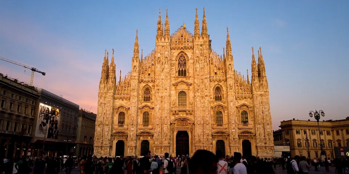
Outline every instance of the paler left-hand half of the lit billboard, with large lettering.
<svg viewBox="0 0 349 174">
<path fill-rule="evenodd" d="M 46 129 L 49 125 L 50 112 L 51 106 L 40 103 L 35 136 L 45 137 Z"/>
</svg>

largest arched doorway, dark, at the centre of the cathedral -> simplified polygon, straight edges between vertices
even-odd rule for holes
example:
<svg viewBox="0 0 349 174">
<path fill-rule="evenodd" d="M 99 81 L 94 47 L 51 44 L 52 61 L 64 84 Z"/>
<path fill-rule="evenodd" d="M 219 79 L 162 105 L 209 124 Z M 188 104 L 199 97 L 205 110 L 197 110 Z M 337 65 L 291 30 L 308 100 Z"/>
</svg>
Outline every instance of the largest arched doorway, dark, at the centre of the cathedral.
<svg viewBox="0 0 349 174">
<path fill-rule="evenodd" d="M 176 135 L 176 156 L 189 155 L 189 134 L 187 131 L 178 131 Z"/>
</svg>

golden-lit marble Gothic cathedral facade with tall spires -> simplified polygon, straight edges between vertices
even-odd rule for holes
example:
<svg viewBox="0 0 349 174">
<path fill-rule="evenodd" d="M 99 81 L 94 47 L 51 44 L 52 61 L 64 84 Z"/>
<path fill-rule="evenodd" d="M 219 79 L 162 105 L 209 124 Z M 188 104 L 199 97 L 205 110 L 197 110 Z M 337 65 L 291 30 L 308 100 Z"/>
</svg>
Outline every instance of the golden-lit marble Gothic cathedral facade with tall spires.
<svg viewBox="0 0 349 174">
<path fill-rule="evenodd" d="M 139 55 L 138 31 L 131 71 L 116 83 L 114 50 L 105 50 L 98 91 L 94 154 L 192 156 L 196 150 L 225 155 L 274 155 L 269 89 L 261 48 L 252 48 L 251 80 L 234 70 L 227 28 L 223 55 L 211 49 L 205 8 L 194 34 L 181 26 L 170 34 L 157 22 L 155 49 Z"/>
</svg>

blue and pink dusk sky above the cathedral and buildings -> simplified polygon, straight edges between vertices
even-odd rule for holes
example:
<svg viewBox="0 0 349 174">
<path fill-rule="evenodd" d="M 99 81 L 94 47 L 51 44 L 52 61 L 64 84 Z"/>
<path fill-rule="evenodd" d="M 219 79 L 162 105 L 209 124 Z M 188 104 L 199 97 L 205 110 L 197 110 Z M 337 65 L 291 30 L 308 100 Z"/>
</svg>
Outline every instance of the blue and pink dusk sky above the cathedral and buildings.
<svg viewBox="0 0 349 174">
<path fill-rule="evenodd" d="M 212 48 L 223 54 L 229 27 L 235 70 L 251 72 L 251 47 L 262 47 L 273 129 L 280 121 L 344 119 L 349 107 L 349 1 L 0 1 L 0 57 L 46 72 L 34 86 L 97 111 L 104 50 L 115 50 L 117 72 L 131 69 L 140 49 L 155 48 L 158 9 L 170 33 L 194 33 L 195 8 L 205 7 Z M 30 82 L 30 70 L 0 62 L 0 73 Z M 117 73 L 118 74 L 118 73 Z M 251 73 L 250 73 L 251 74 Z M 118 78 L 117 78 L 118 79 Z"/>
</svg>

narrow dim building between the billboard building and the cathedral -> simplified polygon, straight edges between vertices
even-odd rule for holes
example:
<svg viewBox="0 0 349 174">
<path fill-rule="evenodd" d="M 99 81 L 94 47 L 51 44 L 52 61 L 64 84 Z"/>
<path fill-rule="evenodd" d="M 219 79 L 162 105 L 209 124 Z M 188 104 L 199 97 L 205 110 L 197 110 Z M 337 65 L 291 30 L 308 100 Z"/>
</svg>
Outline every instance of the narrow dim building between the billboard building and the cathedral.
<svg viewBox="0 0 349 174">
<path fill-rule="evenodd" d="M 92 155 L 93 154 L 93 142 L 95 138 L 95 126 L 97 115 L 80 109 L 77 116 L 77 137 L 75 146 L 75 155 Z"/>
</svg>

